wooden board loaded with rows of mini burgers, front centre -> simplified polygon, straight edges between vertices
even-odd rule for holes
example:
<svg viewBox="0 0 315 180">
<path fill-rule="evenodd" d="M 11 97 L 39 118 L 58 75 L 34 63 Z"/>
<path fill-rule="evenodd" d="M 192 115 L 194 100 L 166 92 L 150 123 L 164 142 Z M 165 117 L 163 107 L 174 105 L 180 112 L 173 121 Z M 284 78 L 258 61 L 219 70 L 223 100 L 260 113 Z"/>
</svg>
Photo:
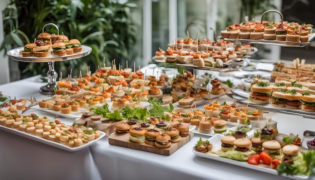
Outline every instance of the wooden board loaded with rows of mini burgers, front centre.
<svg viewBox="0 0 315 180">
<path fill-rule="evenodd" d="M 124 122 L 117 123 L 116 133 L 108 137 L 108 142 L 116 146 L 171 155 L 194 137 L 187 124 L 178 124 L 174 127 L 164 125 L 164 122 L 159 122 L 149 129 L 143 129 L 131 128 Z"/>
</svg>

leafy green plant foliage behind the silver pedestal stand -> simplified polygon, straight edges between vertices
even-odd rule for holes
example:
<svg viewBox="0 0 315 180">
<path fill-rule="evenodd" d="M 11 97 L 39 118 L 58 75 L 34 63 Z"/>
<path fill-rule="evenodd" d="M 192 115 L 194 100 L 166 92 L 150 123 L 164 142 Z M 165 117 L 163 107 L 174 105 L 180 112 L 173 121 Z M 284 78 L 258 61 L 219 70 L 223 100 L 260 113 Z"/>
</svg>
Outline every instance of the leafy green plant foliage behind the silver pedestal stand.
<svg viewBox="0 0 315 180">
<path fill-rule="evenodd" d="M 7 52 L 33 42 L 45 24 L 54 23 L 59 27 L 59 34 L 76 38 L 93 49 L 84 58 L 56 62 L 57 71 L 69 73 L 72 68 L 72 74 L 78 75 L 80 70 L 85 73 L 88 65 L 93 71 L 103 65 L 103 58 L 107 66 L 114 58 L 116 64 L 125 62 L 134 57 L 136 31 L 128 14 L 134 7 L 130 2 L 120 4 L 110 0 L 12 0 L 3 12 L 5 38 L 0 50 Z M 45 31 L 57 33 L 52 26 L 47 26 Z M 47 71 L 46 63 L 23 64 L 26 65 L 24 77 Z"/>
</svg>

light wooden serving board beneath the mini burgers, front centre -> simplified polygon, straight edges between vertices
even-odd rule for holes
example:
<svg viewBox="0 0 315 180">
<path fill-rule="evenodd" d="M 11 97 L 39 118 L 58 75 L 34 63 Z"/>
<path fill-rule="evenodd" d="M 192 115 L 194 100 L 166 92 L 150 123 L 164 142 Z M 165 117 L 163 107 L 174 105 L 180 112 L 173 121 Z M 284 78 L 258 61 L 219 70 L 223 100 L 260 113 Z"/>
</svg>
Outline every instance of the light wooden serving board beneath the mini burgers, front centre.
<svg viewBox="0 0 315 180">
<path fill-rule="evenodd" d="M 190 141 L 194 137 L 193 132 L 189 132 L 189 136 L 182 137 L 182 140 L 180 140 L 177 143 L 172 143 L 172 145 L 168 148 L 159 148 L 156 146 L 151 146 L 146 143 L 136 143 L 129 140 L 129 133 L 124 135 L 116 135 L 116 133 L 111 134 L 108 137 L 108 142 L 111 145 L 121 146 L 121 147 L 127 147 L 131 149 L 137 149 L 141 151 L 147 151 L 152 152 L 155 154 L 161 154 L 169 156 L 173 154 L 175 151 L 177 151 L 179 148 L 181 148 L 183 145 L 185 145 L 188 141 Z"/>
</svg>

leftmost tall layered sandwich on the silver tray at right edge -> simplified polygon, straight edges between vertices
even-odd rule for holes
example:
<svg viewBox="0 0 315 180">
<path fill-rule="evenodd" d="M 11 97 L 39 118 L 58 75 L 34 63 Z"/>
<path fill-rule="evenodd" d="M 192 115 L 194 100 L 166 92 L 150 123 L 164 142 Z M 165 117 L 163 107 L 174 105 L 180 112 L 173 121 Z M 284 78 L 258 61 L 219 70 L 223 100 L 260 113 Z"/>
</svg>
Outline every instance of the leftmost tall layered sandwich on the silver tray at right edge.
<svg viewBox="0 0 315 180">
<path fill-rule="evenodd" d="M 272 87 L 270 87 L 267 82 L 259 81 L 258 84 L 252 85 L 251 90 L 253 93 L 250 94 L 250 101 L 260 105 L 270 103 Z"/>
</svg>

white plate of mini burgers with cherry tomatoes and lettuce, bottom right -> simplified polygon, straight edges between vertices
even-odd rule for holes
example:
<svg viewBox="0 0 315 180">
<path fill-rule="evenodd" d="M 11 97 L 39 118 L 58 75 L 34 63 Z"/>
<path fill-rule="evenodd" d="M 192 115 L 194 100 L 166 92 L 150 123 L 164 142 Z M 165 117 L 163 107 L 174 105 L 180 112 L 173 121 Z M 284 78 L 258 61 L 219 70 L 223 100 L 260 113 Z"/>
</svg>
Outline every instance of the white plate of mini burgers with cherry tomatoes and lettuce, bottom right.
<svg viewBox="0 0 315 180">
<path fill-rule="evenodd" d="M 252 142 L 253 141 L 253 142 Z M 307 179 L 312 172 L 310 161 L 303 157 L 310 157 L 314 151 L 303 150 L 300 152 L 300 147 L 294 144 L 281 146 L 278 141 L 264 140 L 260 151 L 254 151 L 252 144 L 257 143 L 256 140 L 243 138 L 234 138 L 232 136 L 224 136 L 216 134 L 207 140 L 200 140 L 193 147 L 192 151 L 200 157 L 221 161 L 228 164 L 233 164 L 245 168 L 250 168 L 271 174 L 281 174 L 293 179 Z M 229 145 L 231 143 L 231 145 Z M 223 146 L 224 145 L 224 146 Z M 205 148 L 207 147 L 207 148 Z M 272 154 L 277 152 L 277 155 Z M 294 158 L 292 158 L 294 157 Z M 286 161 L 282 161 L 286 159 Z M 290 162 L 287 160 L 290 159 Z M 281 160 L 279 160 L 281 159 Z M 301 165 L 294 165 L 301 163 Z M 294 163 L 293 163 L 294 162 Z M 296 168 L 294 171 L 286 171 L 286 168 Z M 289 175 L 288 175 L 289 174 Z"/>
</svg>

